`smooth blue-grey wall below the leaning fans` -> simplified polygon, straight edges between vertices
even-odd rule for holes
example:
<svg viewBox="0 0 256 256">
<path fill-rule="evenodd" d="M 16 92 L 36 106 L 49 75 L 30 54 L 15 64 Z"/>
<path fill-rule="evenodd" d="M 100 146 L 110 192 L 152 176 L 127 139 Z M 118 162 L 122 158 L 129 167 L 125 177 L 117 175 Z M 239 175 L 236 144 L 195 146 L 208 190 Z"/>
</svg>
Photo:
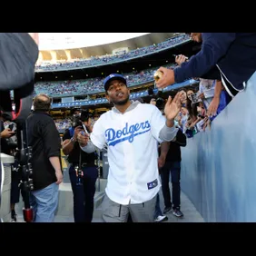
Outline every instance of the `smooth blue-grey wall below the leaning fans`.
<svg viewBox="0 0 256 256">
<path fill-rule="evenodd" d="M 256 221 L 256 74 L 182 148 L 182 191 L 205 222 Z"/>
</svg>

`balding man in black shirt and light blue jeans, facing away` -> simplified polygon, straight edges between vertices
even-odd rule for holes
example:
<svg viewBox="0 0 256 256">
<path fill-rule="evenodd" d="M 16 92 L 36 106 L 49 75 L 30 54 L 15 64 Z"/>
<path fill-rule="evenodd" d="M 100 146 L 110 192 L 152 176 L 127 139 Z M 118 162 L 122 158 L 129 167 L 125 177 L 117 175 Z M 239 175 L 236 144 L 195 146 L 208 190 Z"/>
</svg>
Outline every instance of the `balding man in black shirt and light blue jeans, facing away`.
<svg viewBox="0 0 256 256">
<path fill-rule="evenodd" d="M 27 118 L 28 145 L 32 147 L 34 190 L 31 192 L 34 222 L 54 222 L 59 184 L 63 182 L 60 135 L 49 115 L 51 99 L 34 97 L 34 113 Z"/>
</svg>

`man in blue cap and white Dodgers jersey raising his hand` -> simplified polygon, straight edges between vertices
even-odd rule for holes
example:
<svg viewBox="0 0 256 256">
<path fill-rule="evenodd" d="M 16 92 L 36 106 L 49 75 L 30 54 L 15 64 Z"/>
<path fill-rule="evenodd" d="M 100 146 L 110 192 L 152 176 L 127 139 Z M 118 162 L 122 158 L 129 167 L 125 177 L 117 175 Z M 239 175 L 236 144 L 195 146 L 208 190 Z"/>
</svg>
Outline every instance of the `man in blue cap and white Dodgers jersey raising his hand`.
<svg viewBox="0 0 256 256">
<path fill-rule="evenodd" d="M 176 136 L 174 118 L 181 109 L 181 94 L 169 97 L 164 113 L 153 104 L 130 101 L 130 90 L 121 74 L 104 80 L 106 98 L 112 110 L 94 123 L 93 133 L 79 134 L 86 153 L 108 144 L 109 174 L 103 200 L 103 222 L 153 222 L 156 195 L 161 183 L 156 141 L 172 141 Z"/>
</svg>

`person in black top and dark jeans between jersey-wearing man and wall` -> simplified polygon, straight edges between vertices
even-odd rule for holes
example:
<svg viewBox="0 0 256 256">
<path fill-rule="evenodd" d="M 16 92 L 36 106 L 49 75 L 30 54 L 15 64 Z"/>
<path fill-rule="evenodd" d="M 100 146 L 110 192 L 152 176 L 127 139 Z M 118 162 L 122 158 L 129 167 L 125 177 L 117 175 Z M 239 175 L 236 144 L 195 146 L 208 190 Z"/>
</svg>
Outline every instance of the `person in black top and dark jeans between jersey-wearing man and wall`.
<svg viewBox="0 0 256 256">
<path fill-rule="evenodd" d="M 164 200 L 163 214 L 168 212 L 173 213 L 176 217 L 182 217 L 181 212 L 181 146 L 186 146 L 186 136 L 179 129 L 176 137 L 170 143 L 162 143 L 159 165 L 162 166 L 160 169 L 161 180 L 162 180 L 162 195 Z M 169 188 L 170 172 L 172 177 L 172 200 Z"/>
</svg>

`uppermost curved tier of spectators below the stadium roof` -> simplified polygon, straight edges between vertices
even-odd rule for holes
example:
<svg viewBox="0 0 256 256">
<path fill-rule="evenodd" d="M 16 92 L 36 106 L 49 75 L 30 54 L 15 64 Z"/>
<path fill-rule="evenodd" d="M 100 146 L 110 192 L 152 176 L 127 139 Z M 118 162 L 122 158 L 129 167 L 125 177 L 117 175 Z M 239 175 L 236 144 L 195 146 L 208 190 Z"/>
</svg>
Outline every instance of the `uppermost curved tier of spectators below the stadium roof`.
<svg viewBox="0 0 256 256">
<path fill-rule="evenodd" d="M 54 71 L 60 69 L 72 69 L 83 68 L 101 64 L 112 64 L 116 62 L 123 62 L 134 57 L 143 56 L 145 54 L 152 54 L 163 49 L 170 48 L 176 44 L 182 44 L 184 41 L 190 40 L 190 36 L 187 34 L 178 35 L 172 38 L 168 38 L 159 44 L 153 44 L 138 48 L 123 54 L 109 54 L 103 56 L 92 56 L 89 59 L 76 59 L 76 60 L 58 60 L 58 61 L 41 61 L 35 65 L 35 71 Z"/>
</svg>

